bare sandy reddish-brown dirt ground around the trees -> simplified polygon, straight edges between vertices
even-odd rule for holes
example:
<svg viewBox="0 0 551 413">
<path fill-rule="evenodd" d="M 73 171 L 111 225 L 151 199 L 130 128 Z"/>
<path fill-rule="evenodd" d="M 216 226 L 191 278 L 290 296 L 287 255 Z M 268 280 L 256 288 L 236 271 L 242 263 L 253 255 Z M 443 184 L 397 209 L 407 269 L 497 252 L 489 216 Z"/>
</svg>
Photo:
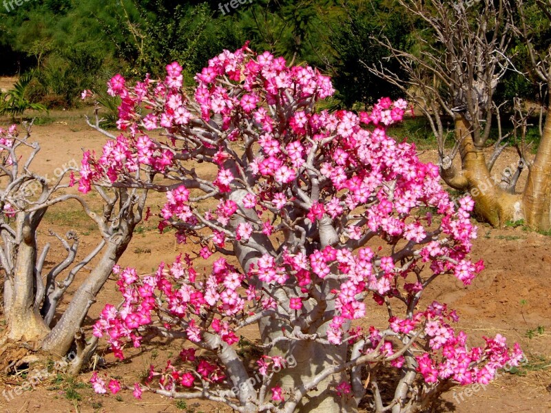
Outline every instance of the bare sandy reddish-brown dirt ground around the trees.
<svg viewBox="0 0 551 413">
<path fill-rule="evenodd" d="M 1 85 L 0 85 L 1 86 Z M 91 131 L 83 119 L 87 109 L 72 112 L 51 112 L 46 125 L 35 126 L 34 139 L 41 144 L 41 153 L 33 169 L 54 175 L 56 168 L 72 160 L 79 163 L 82 148 L 101 149 L 103 136 Z M 0 125 L 8 125 L 8 119 L 0 118 Z M 426 160 L 435 160 L 435 153 L 426 151 Z M 511 162 L 507 154 L 504 167 Z M 496 170 L 498 170 L 496 169 Z M 519 187 L 522 187 L 520 185 Z M 90 203 L 98 204 L 97 196 L 91 195 Z M 152 206 L 163 202 L 159 195 L 149 198 Z M 79 257 L 94 248 L 98 241 L 94 225 L 79 211 L 76 204 L 53 207 L 45 217 L 46 225 L 41 229 L 42 239 L 48 229 L 64 233 L 76 229 L 81 237 Z M 51 240 L 48 240 L 51 241 Z M 142 224 L 134 236 L 127 253 L 120 262 L 122 266 L 136 266 L 141 273 L 151 273 L 161 260 L 171 261 L 185 247 L 178 246 L 174 237 L 160 237 L 156 231 L 156 220 Z M 63 248 L 52 242 L 47 265 L 53 266 L 53 257 L 63 255 Z M 475 260 L 484 258 L 486 270 L 465 288 L 453 277 L 444 277 L 430 287 L 425 301 L 433 299 L 450 304 L 461 317 L 459 327 L 472 336 L 473 343 L 483 335 L 499 332 L 508 337 L 510 343 L 519 341 L 528 355 L 528 364 L 517 372 L 504 373 L 486 388 L 456 388 L 444 395 L 439 412 L 551 412 L 551 237 L 521 227 L 492 229 L 479 224 L 479 237 L 472 249 Z M 90 267 L 93 263 L 90 264 Z M 80 277 L 85 277 L 85 273 Z M 78 284 L 79 279 L 76 279 Z M 66 304 L 70 297 L 65 297 Z M 120 301 L 114 280 L 110 280 L 98 296 L 97 303 L 90 310 L 87 324 L 107 302 Z M 373 319 L 381 319 L 380 308 L 370 309 Z M 0 326 L 1 327 L 1 326 Z M 250 339 L 254 339 L 251 332 Z M 123 382 L 138 381 L 149 363 L 165 363 L 169 354 L 181 350 L 178 342 L 157 342 L 141 350 L 130 352 L 131 357 L 123 362 L 114 361 L 105 342 L 100 348 L 109 367 L 109 372 Z M 23 377 L 0 377 L 0 411 L 23 412 L 231 412 L 225 406 L 211 403 L 187 401 L 177 403 L 171 399 L 143 394 L 142 400 L 135 400 L 131 392 L 120 396 L 101 396 L 90 389 L 90 372 L 84 372 L 76 381 L 65 377 L 43 381 L 33 390 L 16 394 L 24 383 Z M 19 392 L 19 391 L 18 391 Z"/>
</svg>

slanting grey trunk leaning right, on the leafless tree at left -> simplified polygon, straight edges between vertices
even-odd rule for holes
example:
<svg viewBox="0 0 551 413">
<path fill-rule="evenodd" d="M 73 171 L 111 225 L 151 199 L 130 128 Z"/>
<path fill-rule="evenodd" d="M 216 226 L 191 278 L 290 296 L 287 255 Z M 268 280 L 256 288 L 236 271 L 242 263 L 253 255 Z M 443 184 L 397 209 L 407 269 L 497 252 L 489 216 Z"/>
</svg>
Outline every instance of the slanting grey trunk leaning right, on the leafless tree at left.
<svg viewBox="0 0 551 413">
<path fill-rule="evenodd" d="M 122 224 L 121 224 L 122 226 Z M 94 267 L 92 273 L 85 279 L 83 284 L 76 290 L 67 310 L 52 329 L 50 334 L 42 342 L 42 350 L 64 356 L 69 352 L 74 341 L 74 335 L 78 332 L 83 321 L 94 304 L 95 297 L 103 284 L 111 275 L 113 266 L 123 255 L 130 240 L 134 228 L 122 230 L 124 235 L 118 235 L 107 244 L 107 251 L 103 253 L 100 262 Z"/>
</svg>

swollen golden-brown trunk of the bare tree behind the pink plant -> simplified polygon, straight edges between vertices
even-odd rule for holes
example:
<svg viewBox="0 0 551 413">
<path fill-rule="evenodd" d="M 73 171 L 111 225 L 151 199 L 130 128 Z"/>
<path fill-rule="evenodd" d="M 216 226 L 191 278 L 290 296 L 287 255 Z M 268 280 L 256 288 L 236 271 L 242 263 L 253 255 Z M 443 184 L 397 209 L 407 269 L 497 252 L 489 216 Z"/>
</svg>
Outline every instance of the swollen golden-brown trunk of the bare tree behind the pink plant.
<svg viewBox="0 0 551 413">
<path fill-rule="evenodd" d="M 492 178 L 484 152 L 473 142 L 470 124 L 462 116 L 455 120 L 455 138 L 459 141 L 461 171 L 456 171 L 451 160 L 443 160 L 444 182 L 453 189 L 470 193 L 475 200 L 475 213 L 493 226 L 523 218 L 521 196 L 503 191 Z"/>
</svg>

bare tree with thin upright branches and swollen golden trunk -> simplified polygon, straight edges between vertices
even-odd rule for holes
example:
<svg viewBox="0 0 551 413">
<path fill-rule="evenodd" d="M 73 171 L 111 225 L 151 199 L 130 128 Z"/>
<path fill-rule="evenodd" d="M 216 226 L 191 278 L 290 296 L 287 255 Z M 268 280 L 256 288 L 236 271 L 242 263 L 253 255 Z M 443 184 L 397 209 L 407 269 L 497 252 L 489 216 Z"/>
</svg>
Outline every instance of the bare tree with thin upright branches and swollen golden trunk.
<svg viewBox="0 0 551 413">
<path fill-rule="evenodd" d="M 526 166 L 529 180 L 539 182 L 526 158 L 526 145 L 514 134 L 503 134 L 502 105 L 494 99 L 495 89 L 508 70 L 517 70 L 511 61 L 509 46 L 514 36 L 514 21 L 510 1 L 406 1 L 399 3 L 422 29 L 417 32 L 418 50 L 398 50 L 390 42 L 379 40 L 388 47 L 393 59 L 408 73 L 408 79 L 393 72 L 371 67 L 373 73 L 400 87 L 422 110 L 438 142 L 440 172 L 444 181 L 458 191 L 469 191 L 476 201 L 479 217 L 492 225 L 507 220 L 527 218 L 530 224 L 545 229 L 548 224 L 534 220 L 529 199 L 539 205 L 549 204 L 541 197 L 540 189 L 527 188 L 524 197 L 515 193 L 515 187 Z M 446 118 L 453 121 L 452 130 L 446 127 Z M 486 157 L 484 149 L 490 131 L 498 123 L 499 136 L 492 154 Z M 526 116 L 515 118 L 517 125 Z M 453 136 L 453 147 L 446 150 L 446 138 Z M 519 163 L 506 177 L 492 176 L 497 158 L 514 142 Z M 543 147 L 541 148 L 543 149 Z M 544 149 L 545 150 L 545 149 Z M 459 168 L 454 159 L 459 155 Z M 541 156 L 540 156 L 541 158 Z M 538 164 L 548 161 L 538 161 Z M 539 212 L 538 212 L 539 214 Z M 547 226 L 546 226 L 547 225 Z"/>
</svg>

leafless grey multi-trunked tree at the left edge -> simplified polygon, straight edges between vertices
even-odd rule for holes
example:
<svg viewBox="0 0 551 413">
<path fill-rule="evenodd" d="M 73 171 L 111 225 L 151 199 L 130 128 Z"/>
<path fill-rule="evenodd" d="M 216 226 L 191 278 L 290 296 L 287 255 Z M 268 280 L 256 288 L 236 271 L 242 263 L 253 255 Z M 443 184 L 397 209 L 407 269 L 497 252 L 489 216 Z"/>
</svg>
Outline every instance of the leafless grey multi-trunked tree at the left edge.
<svg viewBox="0 0 551 413">
<path fill-rule="evenodd" d="M 85 343 L 81 326 L 97 293 L 132 239 L 136 224 L 141 221 L 147 191 L 97 187 L 104 204 L 103 212 L 96 213 L 81 195 L 67 193 L 74 184 L 76 165 L 64 168 L 54 179 L 32 171 L 40 145 L 30 141 L 30 125 L 22 137 L 14 127 L 0 131 L 0 236 L 3 241 L 0 264 L 4 275 L 3 308 L 8 324 L 1 338 L 0 352 L 24 342 L 31 350 L 47 350 L 64 357 L 76 346 L 78 354 L 72 365 L 72 371 L 76 372 L 92 355 L 97 343 L 94 339 Z M 25 147 L 30 154 L 23 162 L 20 152 Z M 79 202 L 97 224 L 101 240 L 77 262 L 79 237 L 76 232 L 69 231 L 63 237 L 50 231 L 50 236 L 60 242 L 67 253 L 46 271 L 51 244 L 45 243 L 39 251 L 37 230 L 49 207 L 70 200 Z M 99 261 L 94 262 L 90 275 L 77 288 L 59 318 L 59 304 L 67 288 L 96 257 Z M 6 360 L 5 365 L 10 362 Z"/>
</svg>

